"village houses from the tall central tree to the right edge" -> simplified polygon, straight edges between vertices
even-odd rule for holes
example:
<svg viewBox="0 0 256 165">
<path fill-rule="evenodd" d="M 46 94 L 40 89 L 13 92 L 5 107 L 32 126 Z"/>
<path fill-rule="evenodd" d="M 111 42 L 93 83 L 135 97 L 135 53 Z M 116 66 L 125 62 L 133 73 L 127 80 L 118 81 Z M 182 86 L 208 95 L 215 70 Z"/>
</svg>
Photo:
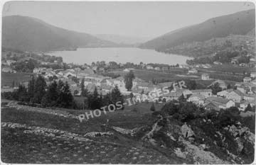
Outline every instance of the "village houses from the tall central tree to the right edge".
<svg viewBox="0 0 256 165">
<path fill-rule="evenodd" d="M 164 94 L 163 96 L 156 97 L 151 101 L 172 101 L 178 100 L 178 98 L 183 96 L 186 101 L 191 101 L 198 106 L 203 106 L 206 109 L 220 110 L 220 108 L 225 109 L 236 106 L 243 111 L 249 104 L 251 107 L 255 106 L 255 81 L 236 83 L 235 89 L 227 89 L 227 85 L 221 80 L 216 80 L 212 84 L 215 83 L 218 83 L 222 89 L 222 91 L 218 92 L 216 95 L 213 95 L 212 89 L 176 89 Z M 132 93 L 134 93 L 135 96 L 141 96 L 142 101 L 144 101 L 141 93 L 147 93 L 149 91 L 154 91 L 157 88 L 171 85 L 171 82 L 160 83 L 157 85 L 142 82 L 137 84 L 137 86 L 134 86 Z"/>
</svg>

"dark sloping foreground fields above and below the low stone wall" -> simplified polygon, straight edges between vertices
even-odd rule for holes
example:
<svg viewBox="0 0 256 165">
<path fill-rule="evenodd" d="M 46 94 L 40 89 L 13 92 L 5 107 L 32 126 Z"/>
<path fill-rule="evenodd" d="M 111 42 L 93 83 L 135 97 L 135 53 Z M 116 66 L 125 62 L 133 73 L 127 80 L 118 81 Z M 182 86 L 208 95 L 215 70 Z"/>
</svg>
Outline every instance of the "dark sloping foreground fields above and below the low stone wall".
<svg viewBox="0 0 256 165">
<path fill-rule="evenodd" d="M 144 147 L 134 139 L 118 135 L 88 137 L 89 141 L 63 139 L 53 130 L 85 135 L 90 131 L 102 131 L 102 124 L 110 120 L 112 126 L 144 125 L 150 123 L 150 115 L 132 111 L 108 113 L 87 123 L 74 118 L 64 118 L 26 109 L 1 109 L 1 158 L 5 163 L 22 164 L 176 164 L 180 163 L 160 152 Z M 132 122 L 131 122 L 132 121 Z M 17 123 L 23 127 L 6 127 L 4 123 Z M 27 129 L 37 129 L 36 133 Z M 39 128 L 52 131 L 43 135 Z"/>
</svg>

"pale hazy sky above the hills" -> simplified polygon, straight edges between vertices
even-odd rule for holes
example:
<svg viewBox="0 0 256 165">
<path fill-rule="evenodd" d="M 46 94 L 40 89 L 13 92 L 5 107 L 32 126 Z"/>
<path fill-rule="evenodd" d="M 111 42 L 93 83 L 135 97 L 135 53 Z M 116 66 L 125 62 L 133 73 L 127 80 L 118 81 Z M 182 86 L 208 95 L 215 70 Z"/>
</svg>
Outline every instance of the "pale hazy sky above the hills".
<svg viewBox="0 0 256 165">
<path fill-rule="evenodd" d="M 251 8 L 255 6 L 250 2 L 9 1 L 4 5 L 3 16 L 32 16 L 60 28 L 91 34 L 154 38 L 208 18 Z"/>
</svg>

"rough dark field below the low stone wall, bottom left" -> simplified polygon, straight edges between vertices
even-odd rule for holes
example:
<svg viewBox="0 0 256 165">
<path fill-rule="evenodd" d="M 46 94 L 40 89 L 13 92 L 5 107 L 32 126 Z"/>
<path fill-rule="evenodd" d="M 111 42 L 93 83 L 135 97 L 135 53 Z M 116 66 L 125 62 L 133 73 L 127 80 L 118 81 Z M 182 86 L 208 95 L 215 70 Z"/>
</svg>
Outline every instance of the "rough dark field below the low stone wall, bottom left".
<svg viewBox="0 0 256 165">
<path fill-rule="evenodd" d="M 1 158 L 19 164 L 169 164 L 153 149 L 61 140 L 1 127 Z"/>
</svg>

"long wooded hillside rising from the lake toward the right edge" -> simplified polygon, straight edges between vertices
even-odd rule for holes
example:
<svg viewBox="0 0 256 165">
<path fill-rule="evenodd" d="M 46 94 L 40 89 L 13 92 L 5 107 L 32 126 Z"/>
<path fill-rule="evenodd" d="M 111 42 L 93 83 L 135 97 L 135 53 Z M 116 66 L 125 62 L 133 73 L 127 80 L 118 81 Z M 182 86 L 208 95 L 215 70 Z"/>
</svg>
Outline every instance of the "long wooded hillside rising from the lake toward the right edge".
<svg viewBox="0 0 256 165">
<path fill-rule="evenodd" d="M 240 11 L 174 30 L 140 45 L 142 48 L 169 52 L 171 47 L 190 42 L 203 42 L 211 38 L 225 38 L 228 35 L 246 35 L 255 28 L 255 9 Z M 170 52 L 171 53 L 171 52 Z"/>
</svg>

